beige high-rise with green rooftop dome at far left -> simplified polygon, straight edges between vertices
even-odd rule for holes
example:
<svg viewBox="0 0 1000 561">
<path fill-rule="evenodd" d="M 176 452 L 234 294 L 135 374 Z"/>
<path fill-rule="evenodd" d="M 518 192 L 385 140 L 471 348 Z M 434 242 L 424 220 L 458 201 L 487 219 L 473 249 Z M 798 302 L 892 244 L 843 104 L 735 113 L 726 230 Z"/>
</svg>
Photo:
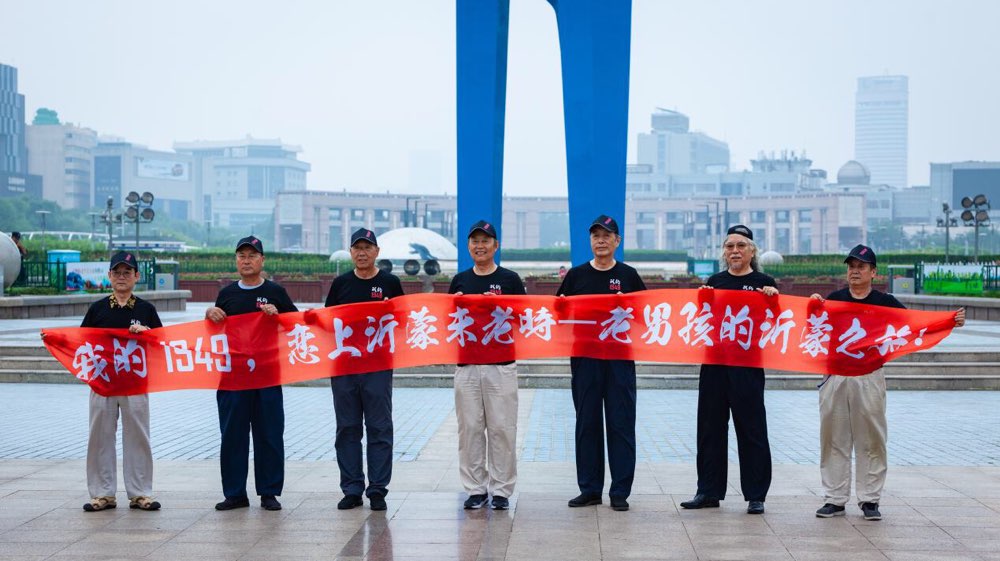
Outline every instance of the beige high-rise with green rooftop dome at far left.
<svg viewBox="0 0 1000 561">
<path fill-rule="evenodd" d="M 42 176 L 42 198 L 63 208 L 91 208 L 97 133 L 39 109 L 25 137 L 28 170 Z"/>
</svg>

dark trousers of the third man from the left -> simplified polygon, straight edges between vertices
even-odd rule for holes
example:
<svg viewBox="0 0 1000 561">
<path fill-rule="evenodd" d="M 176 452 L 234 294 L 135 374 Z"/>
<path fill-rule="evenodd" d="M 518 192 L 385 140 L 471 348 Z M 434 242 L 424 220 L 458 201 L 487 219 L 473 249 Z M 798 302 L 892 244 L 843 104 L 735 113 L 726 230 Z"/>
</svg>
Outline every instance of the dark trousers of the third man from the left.
<svg viewBox="0 0 1000 561">
<path fill-rule="evenodd" d="M 382 495 L 392 479 L 392 370 L 334 376 L 337 465 L 345 495 Z M 368 434 L 368 487 L 362 464 L 361 435 Z"/>
</svg>

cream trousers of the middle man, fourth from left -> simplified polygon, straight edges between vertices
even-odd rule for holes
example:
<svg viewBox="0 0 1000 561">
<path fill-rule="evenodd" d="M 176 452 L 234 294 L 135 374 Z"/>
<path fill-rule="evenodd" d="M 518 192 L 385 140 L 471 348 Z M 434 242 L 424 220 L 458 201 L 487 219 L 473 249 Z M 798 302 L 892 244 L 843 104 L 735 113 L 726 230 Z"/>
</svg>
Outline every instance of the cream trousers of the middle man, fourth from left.
<svg viewBox="0 0 1000 561">
<path fill-rule="evenodd" d="M 517 364 L 459 366 L 455 415 L 465 490 L 509 498 L 517 480 Z"/>
</svg>

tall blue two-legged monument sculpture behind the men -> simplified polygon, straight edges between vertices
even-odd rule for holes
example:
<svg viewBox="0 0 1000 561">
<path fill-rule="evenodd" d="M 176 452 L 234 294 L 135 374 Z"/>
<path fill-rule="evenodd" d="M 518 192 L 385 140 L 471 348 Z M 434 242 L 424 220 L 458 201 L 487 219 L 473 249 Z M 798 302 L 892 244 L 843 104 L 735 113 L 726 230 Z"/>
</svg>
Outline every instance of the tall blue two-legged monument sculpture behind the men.
<svg viewBox="0 0 1000 561">
<path fill-rule="evenodd" d="M 556 12 L 566 122 L 570 253 L 592 254 L 591 221 L 624 226 L 631 0 L 548 0 Z M 503 140 L 509 0 L 456 0 L 458 236 L 503 217 Z M 459 244 L 461 245 L 461 243 Z M 459 251 L 459 270 L 472 259 Z M 499 257 L 499 254 L 498 254 Z M 618 248 L 617 258 L 622 258 Z"/>
</svg>

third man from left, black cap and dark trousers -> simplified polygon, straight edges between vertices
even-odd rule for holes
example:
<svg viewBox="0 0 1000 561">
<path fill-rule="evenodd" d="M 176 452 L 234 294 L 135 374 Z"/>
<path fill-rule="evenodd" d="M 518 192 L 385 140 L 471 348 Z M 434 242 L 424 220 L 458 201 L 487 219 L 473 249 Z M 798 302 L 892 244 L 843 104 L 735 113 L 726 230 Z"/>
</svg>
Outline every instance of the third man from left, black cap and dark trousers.
<svg viewBox="0 0 1000 561">
<path fill-rule="evenodd" d="M 379 270 L 375 232 L 361 228 L 351 234 L 354 270 L 340 275 L 330 286 L 327 306 L 377 302 L 403 295 L 395 275 Z M 378 319 L 378 318 L 376 318 Z M 385 496 L 392 478 L 392 370 L 332 376 L 333 409 L 337 417 L 337 465 L 344 498 L 337 508 L 347 510 L 368 497 L 372 510 L 385 510 Z M 362 423 L 368 436 L 368 488 L 361 461 Z"/>
</svg>

